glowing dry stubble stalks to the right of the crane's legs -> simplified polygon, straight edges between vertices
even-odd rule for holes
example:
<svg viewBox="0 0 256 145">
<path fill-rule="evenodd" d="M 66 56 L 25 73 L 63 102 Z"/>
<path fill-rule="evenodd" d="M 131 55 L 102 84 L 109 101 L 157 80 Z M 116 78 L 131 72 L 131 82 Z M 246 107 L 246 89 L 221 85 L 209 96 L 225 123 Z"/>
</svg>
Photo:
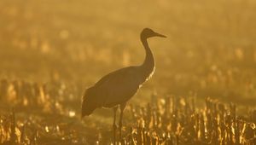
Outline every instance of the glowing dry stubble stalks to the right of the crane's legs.
<svg viewBox="0 0 256 145">
<path fill-rule="evenodd" d="M 256 110 L 237 115 L 232 103 L 207 98 L 201 109 L 195 103 L 194 98 L 155 98 L 148 107 L 132 109 L 137 127 L 122 144 L 256 143 Z"/>
</svg>

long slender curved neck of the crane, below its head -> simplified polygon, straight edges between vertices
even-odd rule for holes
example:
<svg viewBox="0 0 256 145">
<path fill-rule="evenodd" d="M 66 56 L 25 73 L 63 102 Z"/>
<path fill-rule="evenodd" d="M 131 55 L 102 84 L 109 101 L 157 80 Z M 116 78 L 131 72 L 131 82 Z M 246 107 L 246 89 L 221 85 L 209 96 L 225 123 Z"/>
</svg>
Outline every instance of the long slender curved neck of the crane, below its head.
<svg viewBox="0 0 256 145">
<path fill-rule="evenodd" d="M 143 77 L 148 78 L 152 73 L 154 73 L 154 56 L 148 46 L 147 38 L 141 36 L 141 41 L 146 52 L 145 60 L 141 67 L 143 70 Z"/>
</svg>

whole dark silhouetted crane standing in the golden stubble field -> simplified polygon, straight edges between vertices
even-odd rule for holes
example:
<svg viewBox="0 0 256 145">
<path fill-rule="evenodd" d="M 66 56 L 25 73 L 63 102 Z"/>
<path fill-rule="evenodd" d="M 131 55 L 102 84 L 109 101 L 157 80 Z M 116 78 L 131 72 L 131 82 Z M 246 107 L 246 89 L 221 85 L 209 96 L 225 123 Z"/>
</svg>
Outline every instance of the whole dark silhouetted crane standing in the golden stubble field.
<svg viewBox="0 0 256 145">
<path fill-rule="evenodd" d="M 81 117 L 89 116 L 97 107 L 113 108 L 113 142 L 115 142 L 116 132 L 116 111 L 120 108 L 119 118 L 119 138 L 121 138 L 121 128 L 123 112 L 132 96 L 154 73 L 154 56 L 148 46 L 148 38 L 166 36 L 154 32 L 149 28 L 144 28 L 140 38 L 144 46 L 146 56 L 140 66 L 124 67 L 112 73 L 108 73 L 96 84 L 85 90 L 82 98 Z"/>
</svg>

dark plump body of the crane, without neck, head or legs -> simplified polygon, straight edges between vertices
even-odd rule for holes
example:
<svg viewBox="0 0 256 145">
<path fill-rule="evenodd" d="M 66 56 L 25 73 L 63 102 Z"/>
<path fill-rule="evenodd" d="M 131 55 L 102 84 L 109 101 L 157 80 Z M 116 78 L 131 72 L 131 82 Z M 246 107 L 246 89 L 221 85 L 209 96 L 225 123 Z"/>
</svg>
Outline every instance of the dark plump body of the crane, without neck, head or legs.
<svg viewBox="0 0 256 145">
<path fill-rule="evenodd" d="M 154 69 L 151 73 L 153 71 Z M 115 107 L 130 100 L 150 76 L 150 74 L 146 75 L 138 72 L 143 72 L 141 67 L 125 67 L 108 73 L 108 75 L 101 78 L 95 85 L 85 91 L 84 96 L 89 96 L 92 99 L 84 98 L 84 101 L 88 99 L 88 102 L 86 102 L 88 105 L 84 104 L 83 107 L 89 107 L 90 104 L 94 105 L 84 109 L 86 112 L 84 113 L 90 114 L 96 107 Z"/>
</svg>

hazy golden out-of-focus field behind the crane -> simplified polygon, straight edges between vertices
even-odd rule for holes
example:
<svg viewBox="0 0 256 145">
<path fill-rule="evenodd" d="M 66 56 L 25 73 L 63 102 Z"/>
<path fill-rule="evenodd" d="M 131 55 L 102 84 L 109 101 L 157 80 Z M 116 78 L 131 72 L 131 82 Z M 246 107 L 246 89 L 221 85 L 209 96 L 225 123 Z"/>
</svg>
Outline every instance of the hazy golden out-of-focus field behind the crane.
<svg viewBox="0 0 256 145">
<path fill-rule="evenodd" d="M 131 103 L 210 96 L 255 107 L 255 9 L 254 0 L 1 0 L 1 112 L 31 104 L 79 116 L 87 87 L 143 62 L 145 27 L 167 38 L 148 40 L 156 69 Z M 92 118 L 111 125 L 111 117 Z"/>
</svg>

